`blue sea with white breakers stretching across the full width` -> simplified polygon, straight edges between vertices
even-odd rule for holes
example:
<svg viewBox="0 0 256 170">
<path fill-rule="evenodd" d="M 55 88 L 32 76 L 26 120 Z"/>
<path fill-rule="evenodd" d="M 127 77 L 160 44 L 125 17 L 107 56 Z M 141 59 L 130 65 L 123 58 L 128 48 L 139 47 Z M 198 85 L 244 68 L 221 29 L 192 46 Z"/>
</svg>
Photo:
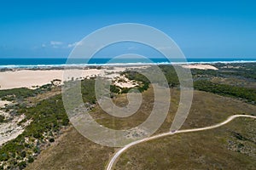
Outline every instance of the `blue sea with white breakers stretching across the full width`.
<svg viewBox="0 0 256 170">
<path fill-rule="evenodd" d="M 150 59 L 154 64 L 170 64 L 170 61 L 164 58 Z M 256 59 L 238 59 L 238 58 L 189 58 L 189 64 L 193 63 L 244 63 L 256 62 Z M 179 59 L 173 59 L 172 63 L 179 63 Z M 148 59 L 108 59 L 108 58 L 92 58 L 86 63 L 84 59 L 72 59 L 68 61 L 68 65 L 145 65 Z M 0 59 L 0 68 L 24 68 L 24 67 L 44 67 L 44 66 L 65 66 L 67 59 L 64 58 L 2 58 Z"/>
</svg>

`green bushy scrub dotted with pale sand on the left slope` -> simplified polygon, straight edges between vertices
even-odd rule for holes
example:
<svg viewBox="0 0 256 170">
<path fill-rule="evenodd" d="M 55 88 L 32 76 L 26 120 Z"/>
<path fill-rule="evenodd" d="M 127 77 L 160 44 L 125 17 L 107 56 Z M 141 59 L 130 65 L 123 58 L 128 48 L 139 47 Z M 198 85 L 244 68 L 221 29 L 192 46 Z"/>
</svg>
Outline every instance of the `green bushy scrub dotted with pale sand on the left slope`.
<svg viewBox="0 0 256 170">
<path fill-rule="evenodd" d="M 94 94 L 93 85 L 94 80 L 84 80 L 82 82 L 84 102 L 90 104 L 96 102 L 95 95 L 92 95 Z M 47 89 L 45 87 L 48 86 L 36 90 L 27 88 L 6 90 L 2 91 L 2 96 L 4 98 L 6 95 L 11 95 L 18 101 L 42 93 L 42 90 Z M 42 148 L 49 145 L 49 143 L 53 143 L 55 138 L 60 136 L 61 131 L 69 124 L 61 94 L 41 100 L 31 107 L 18 104 L 15 111 L 18 115 L 26 115 L 26 118 L 20 124 L 29 120 L 31 120 L 31 123 L 16 139 L 10 140 L 0 148 L 0 169 L 25 168 L 27 163 L 31 163 Z"/>
</svg>

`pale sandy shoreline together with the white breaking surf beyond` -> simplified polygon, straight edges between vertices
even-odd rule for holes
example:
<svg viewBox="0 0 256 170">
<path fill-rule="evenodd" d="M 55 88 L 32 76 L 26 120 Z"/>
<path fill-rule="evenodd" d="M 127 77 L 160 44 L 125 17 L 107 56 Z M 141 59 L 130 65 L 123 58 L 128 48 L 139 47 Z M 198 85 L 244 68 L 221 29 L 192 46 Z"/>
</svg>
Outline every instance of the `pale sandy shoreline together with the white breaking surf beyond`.
<svg viewBox="0 0 256 170">
<path fill-rule="evenodd" d="M 198 70 L 218 70 L 218 63 L 224 65 L 242 63 L 256 63 L 255 61 L 214 61 L 214 62 L 188 62 L 174 63 L 173 65 L 181 65 L 187 69 Z M 108 65 L 22 65 L 17 67 L 2 68 L 0 67 L 0 90 L 10 88 L 35 88 L 53 80 L 60 80 L 61 83 L 67 81 L 63 79 L 63 74 L 66 70 L 72 73 L 69 78 L 83 79 L 90 77 L 108 77 L 114 79 L 119 77 L 122 71 L 127 68 L 143 68 L 147 67 L 148 63 L 133 63 L 133 64 L 108 64 Z M 152 64 L 151 64 L 152 65 Z M 170 63 L 154 63 L 153 65 L 170 65 Z M 77 73 L 79 72 L 79 75 Z"/>
</svg>

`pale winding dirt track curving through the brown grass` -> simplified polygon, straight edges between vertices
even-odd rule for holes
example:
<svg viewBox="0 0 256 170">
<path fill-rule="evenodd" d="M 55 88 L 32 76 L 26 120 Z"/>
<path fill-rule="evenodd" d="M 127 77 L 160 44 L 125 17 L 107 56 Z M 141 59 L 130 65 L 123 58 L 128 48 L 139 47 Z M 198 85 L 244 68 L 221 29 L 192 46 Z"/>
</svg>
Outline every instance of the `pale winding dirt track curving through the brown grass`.
<svg viewBox="0 0 256 170">
<path fill-rule="evenodd" d="M 185 130 L 178 130 L 176 132 L 168 132 L 168 133 L 160 133 L 151 137 L 148 137 L 146 139 L 140 139 L 134 142 L 131 142 L 130 144 L 125 145 L 125 147 L 121 148 L 120 150 L 118 150 L 114 156 L 111 158 L 111 160 L 108 162 L 108 167 L 106 168 L 107 170 L 111 170 L 115 161 L 117 160 L 117 158 L 119 158 L 119 156 L 125 151 L 128 150 L 131 146 L 134 146 L 135 144 L 140 144 L 143 142 L 147 142 L 148 140 L 152 140 L 152 139 L 158 139 L 164 136 L 168 136 L 168 135 L 173 135 L 173 134 L 177 134 L 177 133 L 192 133 L 192 132 L 198 132 L 198 131 L 203 131 L 203 130 L 208 130 L 208 129 L 212 129 L 212 128 L 216 128 L 216 127 L 221 127 L 224 124 L 227 124 L 228 122 L 232 121 L 233 119 L 235 119 L 236 117 L 251 117 L 251 118 L 256 118 L 256 116 L 249 116 L 249 115 L 233 115 L 227 118 L 227 120 L 225 120 L 224 122 L 220 122 L 218 124 L 209 126 L 209 127 L 200 127 L 200 128 L 192 128 L 192 129 L 185 129 Z"/>
</svg>

